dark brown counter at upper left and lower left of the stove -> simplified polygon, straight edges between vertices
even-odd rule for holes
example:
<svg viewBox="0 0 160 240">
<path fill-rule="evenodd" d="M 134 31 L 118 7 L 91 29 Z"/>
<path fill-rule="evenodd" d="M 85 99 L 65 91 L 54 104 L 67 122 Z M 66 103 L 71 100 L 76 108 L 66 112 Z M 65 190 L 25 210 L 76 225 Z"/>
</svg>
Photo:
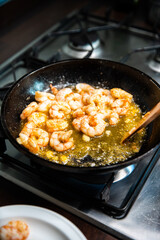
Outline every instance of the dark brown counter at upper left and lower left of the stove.
<svg viewBox="0 0 160 240">
<path fill-rule="evenodd" d="M 30 3 L 31 1 L 28 2 Z M 42 3 L 42 1 L 39 2 Z M 23 3 L 22 6 L 20 1 L 15 0 L 2 6 L 0 9 L 0 63 L 6 61 L 53 24 L 64 18 L 66 14 L 80 8 L 86 2 L 73 0 L 67 1 L 66 4 L 66 1 L 62 0 L 45 1 L 45 3 L 40 5 L 35 4 L 33 8 L 30 3 L 29 8 L 29 6 L 25 6 L 26 3 Z M 17 18 L 13 16 L 16 14 Z M 10 19 L 10 22 L 9 20 L 7 21 L 7 18 Z M 88 240 L 115 240 L 114 237 L 88 224 L 84 220 L 0 178 L 0 206 L 10 204 L 29 204 L 51 209 L 73 222 Z"/>
</svg>

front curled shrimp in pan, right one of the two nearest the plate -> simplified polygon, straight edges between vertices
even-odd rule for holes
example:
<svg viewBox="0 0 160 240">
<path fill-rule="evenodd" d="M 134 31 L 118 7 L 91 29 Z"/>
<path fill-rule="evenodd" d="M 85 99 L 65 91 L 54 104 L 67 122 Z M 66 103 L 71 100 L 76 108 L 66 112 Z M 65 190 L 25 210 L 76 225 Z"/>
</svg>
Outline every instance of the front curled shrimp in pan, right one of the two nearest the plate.
<svg viewBox="0 0 160 240">
<path fill-rule="evenodd" d="M 50 138 L 50 146 L 58 152 L 66 151 L 74 146 L 72 130 L 68 132 L 53 132 Z"/>
</svg>

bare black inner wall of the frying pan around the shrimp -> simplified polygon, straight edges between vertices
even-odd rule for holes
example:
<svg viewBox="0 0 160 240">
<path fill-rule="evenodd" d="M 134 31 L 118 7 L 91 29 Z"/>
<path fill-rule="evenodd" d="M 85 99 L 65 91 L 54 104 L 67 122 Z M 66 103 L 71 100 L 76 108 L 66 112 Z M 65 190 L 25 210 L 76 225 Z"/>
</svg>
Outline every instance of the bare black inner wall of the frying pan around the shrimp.
<svg viewBox="0 0 160 240">
<path fill-rule="evenodd" d="M 20 131 L 19 116 L 25 106 L 34 100 L 35 91 L 48 91 L 50 83 L 64 88 L 79 82 L 108 89 L 122 88 L 133 95 L 143 112 L 151 109 L 160 100 L 159 86 L 145 74 L 126 65 L 94 59 L 53 64 L 20 79 L 7 94 L 2 106 L 2 121 L 12 143 L 17 146 L 15 139 Z M 136 157 L 159 143 L 159 129 L 160 119 L 157 118 L 150 124 L 147 141 Z"/>
</svg>

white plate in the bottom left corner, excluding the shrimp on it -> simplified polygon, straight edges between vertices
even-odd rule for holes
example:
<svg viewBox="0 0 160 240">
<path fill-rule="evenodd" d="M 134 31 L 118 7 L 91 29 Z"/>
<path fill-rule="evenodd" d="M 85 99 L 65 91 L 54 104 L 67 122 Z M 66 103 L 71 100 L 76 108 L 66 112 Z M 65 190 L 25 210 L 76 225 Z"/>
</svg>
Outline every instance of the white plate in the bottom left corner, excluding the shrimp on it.
<svg viewBox="0 0 160 240">
<path fill-rule="evenodd" d="M 28 224 L 27 240 L 86 240 L 72 222 L 45 208 L 30 205 L 0 207 L 0 227 L 11 220 L 24 220 Z"/>
</svg>

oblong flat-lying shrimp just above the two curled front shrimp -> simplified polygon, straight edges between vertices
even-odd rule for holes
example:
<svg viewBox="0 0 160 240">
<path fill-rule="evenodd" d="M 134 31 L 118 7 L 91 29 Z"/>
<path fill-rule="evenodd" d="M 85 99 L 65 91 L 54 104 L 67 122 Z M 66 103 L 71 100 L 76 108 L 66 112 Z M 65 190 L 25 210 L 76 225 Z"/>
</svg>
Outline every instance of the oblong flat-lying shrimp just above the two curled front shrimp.
<svg viewBox="0 0 160 240">
<path fill-rule="evenodd" d="M 49 119 L 46 122 L 48 132 L 62 131 L 68 127 L 68 122 L 64 119 Z"/>
</svg>

